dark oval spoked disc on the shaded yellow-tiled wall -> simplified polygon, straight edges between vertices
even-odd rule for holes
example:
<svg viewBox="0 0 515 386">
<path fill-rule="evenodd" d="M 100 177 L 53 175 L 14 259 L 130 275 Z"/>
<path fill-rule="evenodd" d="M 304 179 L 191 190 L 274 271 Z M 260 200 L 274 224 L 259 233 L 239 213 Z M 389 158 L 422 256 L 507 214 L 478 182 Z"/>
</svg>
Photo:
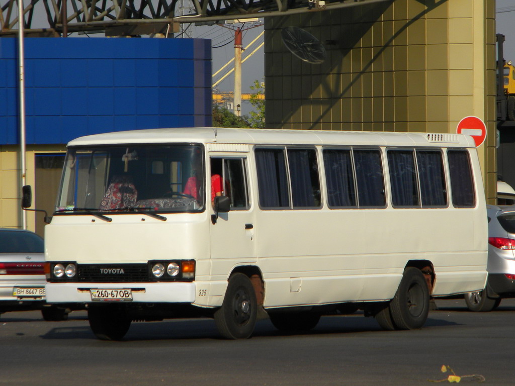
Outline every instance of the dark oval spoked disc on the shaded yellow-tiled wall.
<svg viewBox="0 0 515 386">
<path fill-rule="evenodd" d="M 304 62 L 320 64 L 325 60 L 325 48 L 322 43 L 302 28 L 283 28 L 281 38 L 286 48 Z"/>
</svg>

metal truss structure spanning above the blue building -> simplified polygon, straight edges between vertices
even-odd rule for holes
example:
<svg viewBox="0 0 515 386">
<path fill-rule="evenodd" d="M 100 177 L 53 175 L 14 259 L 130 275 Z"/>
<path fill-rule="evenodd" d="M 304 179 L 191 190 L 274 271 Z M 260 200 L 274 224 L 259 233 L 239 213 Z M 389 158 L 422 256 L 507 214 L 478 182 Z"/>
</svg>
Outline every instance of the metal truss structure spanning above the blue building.
<svg viewBox="0 0 515 386">
<path fill-rule="evenodd" d="M 52 37 L 92 31 L 168 34 L 177 32 L 179 23 L 243 21 L 393 0 L 0 0 L 0 37 L 18 33 L 18 1 L 24 1 L 26 36 Z M 181 14 L 184 8 L 194 11 Z"/>
</svg>

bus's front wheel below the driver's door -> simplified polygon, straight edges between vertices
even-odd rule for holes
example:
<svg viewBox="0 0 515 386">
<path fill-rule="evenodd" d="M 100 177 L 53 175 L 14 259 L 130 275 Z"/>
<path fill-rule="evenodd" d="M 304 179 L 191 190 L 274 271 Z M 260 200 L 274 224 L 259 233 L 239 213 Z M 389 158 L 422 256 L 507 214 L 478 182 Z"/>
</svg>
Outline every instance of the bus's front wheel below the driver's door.
<svg viewBox="0 0 515 386">
<path fill-rule="evenodd" d="M 214 319 L 220 335 L 226 339 L 246 339 L 252 335 L 258 313 L 258 301 L 250 279 L 235 273 L 229 284 L 222 306 Z"/>
</svg>

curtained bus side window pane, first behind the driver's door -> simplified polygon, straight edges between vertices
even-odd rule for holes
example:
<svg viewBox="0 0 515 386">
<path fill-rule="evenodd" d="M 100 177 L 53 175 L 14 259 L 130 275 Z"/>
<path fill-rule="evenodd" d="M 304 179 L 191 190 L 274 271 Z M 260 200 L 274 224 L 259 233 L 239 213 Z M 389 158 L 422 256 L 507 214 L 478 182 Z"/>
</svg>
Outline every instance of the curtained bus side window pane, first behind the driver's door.
<svg viewBox="0 0 515 386">
<path fill-rule="evenodd" d="M 286 162 L 282 149 L 256 149 L 259 201 L 262 207 L 289 207 Z"/>
</svg>

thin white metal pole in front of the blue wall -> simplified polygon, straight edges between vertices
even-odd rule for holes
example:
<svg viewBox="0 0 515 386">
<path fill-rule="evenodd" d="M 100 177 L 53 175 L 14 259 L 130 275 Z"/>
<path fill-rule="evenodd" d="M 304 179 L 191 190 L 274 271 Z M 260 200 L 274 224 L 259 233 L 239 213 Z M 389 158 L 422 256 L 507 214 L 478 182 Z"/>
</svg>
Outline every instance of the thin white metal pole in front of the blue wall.
<svg viewBox="0 0 515 386">
<path fill-rule="evenodd" d="M 23 15 L 23 0 L 18 0 L 18 60 L 20 75 L 20 173 L 21 185 L 26 185 L 26 165 L 25 165 L 25 69 L 24 69 L 24 28 L 25 20 Z M 21 189 L 20 189 L 21 190 Z M 21 209 L 21 205 L 20 205 Z M 27 212 L 21 209 L 22 226 L 27 229 Z"/>
</svg>

